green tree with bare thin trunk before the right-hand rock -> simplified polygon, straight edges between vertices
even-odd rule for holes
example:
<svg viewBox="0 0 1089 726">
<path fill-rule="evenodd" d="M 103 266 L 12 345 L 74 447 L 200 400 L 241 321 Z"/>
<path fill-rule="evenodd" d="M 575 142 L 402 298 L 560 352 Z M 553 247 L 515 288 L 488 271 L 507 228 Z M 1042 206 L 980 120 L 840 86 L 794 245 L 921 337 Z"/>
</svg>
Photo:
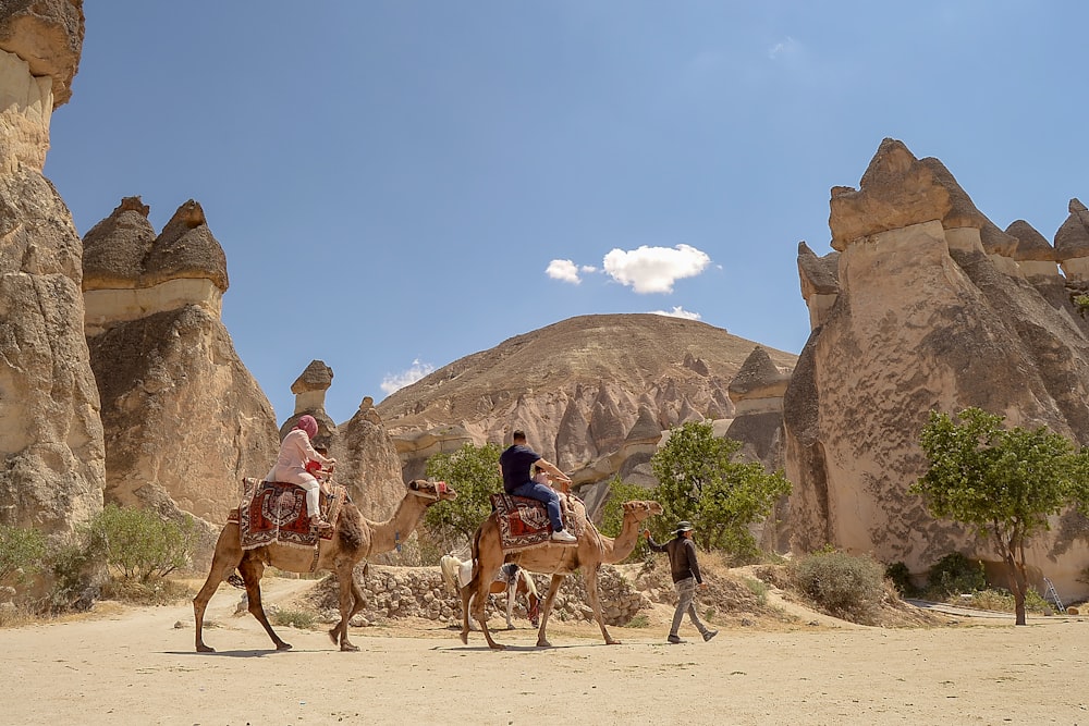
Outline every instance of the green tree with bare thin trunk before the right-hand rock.
<svg viewBox="0 0 1089 726">
<path fill-rule="evenodd" d="M 1008 571 L 1017 625 L 1025 625 L 1025 549 L 1049 529 L 1049 516 L 1076 500 L 1074 447 L 1047 427 L 1004 429 L 1002 416 L 979 408 L 957 418 L 930 413 L 920 436 L 930 468 L 909 491 L 935 517 L 993 539 Z"/>
</svg>

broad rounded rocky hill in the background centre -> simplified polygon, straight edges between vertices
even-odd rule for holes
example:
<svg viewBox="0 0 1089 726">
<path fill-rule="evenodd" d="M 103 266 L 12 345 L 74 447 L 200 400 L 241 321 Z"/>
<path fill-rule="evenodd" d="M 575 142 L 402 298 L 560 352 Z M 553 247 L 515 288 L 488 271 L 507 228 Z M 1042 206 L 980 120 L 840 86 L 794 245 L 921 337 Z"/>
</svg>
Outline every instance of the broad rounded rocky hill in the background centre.
<svg viewBox="0 0 1089 726">
<path fill-rule="evenodd" d="M 378 405 L 405 476 L 465 443 L 530 445 L 576 483 L 621 473 L 649 483 L 645 466 L 663 431 L 688 420 L 732 419 L 729 386 L 758 346 L 707 323 L 659 315 L 571 318 L 466 356 Z M 768 349 L 776 368 L 796 356 Z"/>
</svg>

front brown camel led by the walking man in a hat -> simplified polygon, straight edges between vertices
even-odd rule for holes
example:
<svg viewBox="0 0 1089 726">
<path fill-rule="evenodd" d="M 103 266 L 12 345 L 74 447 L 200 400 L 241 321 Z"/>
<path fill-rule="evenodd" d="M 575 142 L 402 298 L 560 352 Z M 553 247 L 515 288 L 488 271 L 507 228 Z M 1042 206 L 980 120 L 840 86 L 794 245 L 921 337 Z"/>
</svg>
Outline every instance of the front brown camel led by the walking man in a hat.
<svg viewBox="0 0 1089 726">
<path fill-rule="evenodd" d="M 503 647 L 492 640 L 488 631 L 487 616 L 485 615 L 485 603 L 488 599 L 488 590 L 495 573 L 502 567 L 504 562 L 515 562 L 519 566 L 531 573 L 551 575 L 552 582 L 544 596 L 544 607 L 541 608 L 541 625 L 537 631 L 537 647 L 549 648 L 552 645 L 546 637 L 548 628 L 548 616 L 552 612 L 552 602 L 555 593 L 560 590 L 563 578 L 571 575 L 576 569 L 582 568 L 583 577 L 586 578 L 586 593 L 594 608 L 594 617 L 601 628 L 601 635 L 609 645 L 615 645 L 620 641 L 613 640 L 605 629 L 604 619 L 601 617 L 601 602 L 598 598 L 598 568 L 602 564 L 611 565 L 624 559 L 632 554 L 639 540 L 639 522 L 662 513 L 662 505 L 658 502 L 625 502 L 624 503 L 624 525 L 620 536 L 609 539 L 586 518 L 586 509 L 582 506 L 575 507 L 575 517 L 582 524 L 583 533 L 575 544 L 558 544 L 549 542 L 533 550 L 524 550 L 506 554 L 503 552 L 499 541 L 499 525 L 497 524 L 497 513 L 492 512 L 484 524 L 477 529 L 473 538 L 473 579 L 462 588 L 462 642 L 468 642 L 469 636 L 469 601 L 473 605 L 473 617 L 480 624 L 480 631 L 488 639 L 488 645 L 497 650 Z M 474 596 L 475 595 L 475 596 Z"/>
</svg>

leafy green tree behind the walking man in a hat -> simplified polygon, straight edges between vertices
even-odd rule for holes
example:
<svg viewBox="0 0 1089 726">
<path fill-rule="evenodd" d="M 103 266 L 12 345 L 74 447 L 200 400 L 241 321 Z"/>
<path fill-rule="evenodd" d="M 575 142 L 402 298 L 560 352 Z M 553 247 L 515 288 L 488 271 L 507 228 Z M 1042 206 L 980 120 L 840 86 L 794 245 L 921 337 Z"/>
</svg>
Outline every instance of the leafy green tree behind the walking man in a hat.
<svg viewBox="0 0 1089 726">
<path fill-rule="evenodd" d="M 767 517 L 775 501 L 791 493 L 782 471 L 769 472 L 759 462 L 738 460 L 742 444 L 717 438 L 710 423 L 688 422 L 650 459 L 658 487 L 653 499 L 664 508 L 659 528 L 687 519 L 696 541 L 707 550 L 725 550 L 742 558 L 759 550 L 749 526 Z M 662 533 L 661 529 L 658 533 Z"/>
</svg>

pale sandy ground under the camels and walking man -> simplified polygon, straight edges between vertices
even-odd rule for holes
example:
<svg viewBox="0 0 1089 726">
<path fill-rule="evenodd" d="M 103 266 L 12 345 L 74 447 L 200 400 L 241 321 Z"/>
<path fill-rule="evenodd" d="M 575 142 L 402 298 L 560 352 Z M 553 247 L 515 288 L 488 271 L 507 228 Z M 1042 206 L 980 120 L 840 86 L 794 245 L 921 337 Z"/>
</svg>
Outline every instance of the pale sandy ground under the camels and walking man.
<svg viewBox="0 0 1089 726">
<path fill-rule="evenodd" d="M 313 582 L 267 580 L 266 602 Z M 957 618 L 931 628 L 852 626 L 816 616 L 780 629 L 732 627 L 709 643 L 664 642 L 672 608 L 646 628 L 522 623 L 463 645 L 433 623 L 353 629 L 357 653 L 323 631 L 278 628 L 276 652 L 223 586 L 193 651 L 187 604 L 121 608 L 0 630 L 4 724 L 1082 724 L 1089 725 L 1089 618 Z M 795 606 L 796 607 L 796 606 Z M 112 612 L 111 612 L 112 611 Z M 810 614 L 811 615 L 811 614 Z M 502 619 L 492 619 L 502 626 Z"/>
</svg>

